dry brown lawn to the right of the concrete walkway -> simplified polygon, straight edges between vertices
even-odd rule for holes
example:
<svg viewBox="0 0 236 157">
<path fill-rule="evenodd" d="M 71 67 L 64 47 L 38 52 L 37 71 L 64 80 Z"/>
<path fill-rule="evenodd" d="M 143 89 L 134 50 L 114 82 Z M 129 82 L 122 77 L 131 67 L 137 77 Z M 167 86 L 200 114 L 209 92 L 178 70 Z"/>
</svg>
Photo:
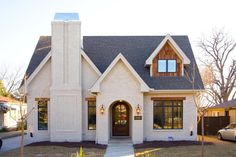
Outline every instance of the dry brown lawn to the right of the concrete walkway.
<svg viewBox="0 0 236 157">
<path fill-rule="evenodd" d="M 206 137 L 205 157 L 236 157 L 236 142 L 219 141 L 216 137 Z M 174 146 L 165 148 L 137 148 L 136 157 L 199 157 L 200 145 Z"/>
</svg>

